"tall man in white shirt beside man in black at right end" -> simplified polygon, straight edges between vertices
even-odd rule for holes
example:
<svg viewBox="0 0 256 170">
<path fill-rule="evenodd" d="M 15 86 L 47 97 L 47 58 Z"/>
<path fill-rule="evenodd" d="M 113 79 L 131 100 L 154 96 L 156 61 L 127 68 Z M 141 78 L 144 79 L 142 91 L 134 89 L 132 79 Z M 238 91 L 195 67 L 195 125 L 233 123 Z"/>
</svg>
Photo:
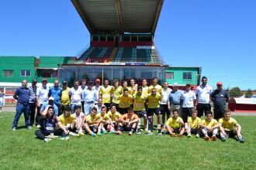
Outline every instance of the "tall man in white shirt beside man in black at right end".
<svg viewBox="0 0 256 170">
<path fill-rule="evenodd" d="M 206 76 L 202 76 L 202 84 L 195 89 L 195 95 L 197 99 L 196 110 L 198 111 L 198 117 L 203 115 L 203 112 L 206 115 L 207 111 L 211 110 L 210 96 L 213 93 L 213 88 L 207 85 Z"/>
</svg>

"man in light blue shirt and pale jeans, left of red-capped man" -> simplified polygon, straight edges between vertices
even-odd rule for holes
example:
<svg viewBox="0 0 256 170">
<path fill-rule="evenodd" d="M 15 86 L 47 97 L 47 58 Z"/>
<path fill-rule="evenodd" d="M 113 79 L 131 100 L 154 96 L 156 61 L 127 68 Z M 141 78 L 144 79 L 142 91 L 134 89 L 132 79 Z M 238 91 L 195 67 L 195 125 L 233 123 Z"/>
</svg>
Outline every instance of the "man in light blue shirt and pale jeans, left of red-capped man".
<svg viewBox="0 0 256 170">
<path fill-rule="evenodd" d="M 97 100 L 97 92 L 92 90 L 92 85 L 92 81 L 89 81 L 88 87 L 81 93 L 82 98 L 85 100 L 85 104 L 83 106 L 85 108 L 85 115 L 91 113 L 92 107 L 94 107 L 95 101 Z"/>
</svg>

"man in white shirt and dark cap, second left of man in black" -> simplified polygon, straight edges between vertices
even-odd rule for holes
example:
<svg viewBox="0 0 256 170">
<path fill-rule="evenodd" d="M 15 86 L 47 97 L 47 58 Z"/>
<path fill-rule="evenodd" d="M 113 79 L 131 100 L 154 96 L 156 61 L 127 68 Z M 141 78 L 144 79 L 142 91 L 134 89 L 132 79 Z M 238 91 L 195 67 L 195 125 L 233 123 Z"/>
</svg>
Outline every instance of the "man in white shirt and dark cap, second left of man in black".
<svg viewBox="0 0 256 170">
<path fill-rule="evenodd" d="M 187 83 L 185 85 L 184 93 L 182 93 L 182 119 L 184 123 L 187 123 L 188 117 L 192 116 L 192 110 L 196 107 L 195 93 L 191 90 L 191 85 Z"/>
</svg>

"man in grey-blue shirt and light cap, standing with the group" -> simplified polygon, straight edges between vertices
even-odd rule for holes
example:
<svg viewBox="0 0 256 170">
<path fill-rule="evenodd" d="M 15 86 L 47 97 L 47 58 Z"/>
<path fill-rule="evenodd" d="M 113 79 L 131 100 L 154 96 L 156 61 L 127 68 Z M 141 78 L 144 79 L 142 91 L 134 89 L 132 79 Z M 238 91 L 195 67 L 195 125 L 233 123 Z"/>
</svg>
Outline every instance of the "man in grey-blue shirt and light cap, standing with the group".
<svg viewBox="0 0 256 170">
<path fill-rule="evenodd" d="M 173 113 L 173 110 L 178 110 L 179 117 L 182 117 L 182 90 L 178 90 L 178 83 L 173 83 L 173 90 L 168 97 L 168 109 Z"/>
</svg>

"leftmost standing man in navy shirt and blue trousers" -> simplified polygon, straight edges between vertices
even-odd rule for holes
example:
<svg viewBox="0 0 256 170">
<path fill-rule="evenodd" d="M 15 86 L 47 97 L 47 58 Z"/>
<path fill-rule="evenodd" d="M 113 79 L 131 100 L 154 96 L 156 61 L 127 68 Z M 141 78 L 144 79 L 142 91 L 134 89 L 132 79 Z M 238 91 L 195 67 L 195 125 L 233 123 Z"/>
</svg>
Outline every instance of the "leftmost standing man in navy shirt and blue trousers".
<svg viewBox="0 0 256 170">
<path fill-rule="evenodd" d="M 13 95 L 17 100 L 16 115 L 12 122 L 12 131 L 16 131 L 19 117 L 23 113 L 25 117 L 25 127 L 31 129 L 29 125 L 29 96 L 30 91 L 27 88 L 27 81 L 22 80 L 22 87 L 18 87 Z"/>
</svg>

